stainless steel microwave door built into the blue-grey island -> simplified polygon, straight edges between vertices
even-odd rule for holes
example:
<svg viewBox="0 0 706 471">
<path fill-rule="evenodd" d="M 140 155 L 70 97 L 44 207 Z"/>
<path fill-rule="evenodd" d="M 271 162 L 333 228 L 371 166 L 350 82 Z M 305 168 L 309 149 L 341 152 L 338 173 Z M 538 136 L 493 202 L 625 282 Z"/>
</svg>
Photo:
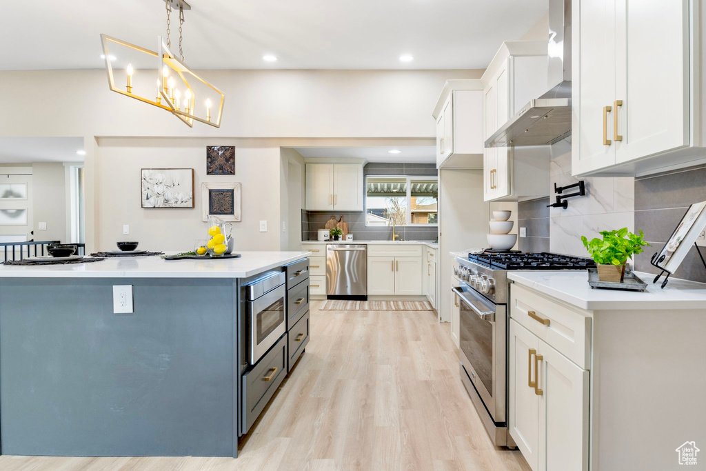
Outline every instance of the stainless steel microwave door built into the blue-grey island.
<svg viewBox="0 0 706 471">
<path fill-rule="evenodd" d="M 256 364 L 287 330 L 285 324 L 286 285 L 247 302 L 250 323 L 250 364 Z"/>
</svg>

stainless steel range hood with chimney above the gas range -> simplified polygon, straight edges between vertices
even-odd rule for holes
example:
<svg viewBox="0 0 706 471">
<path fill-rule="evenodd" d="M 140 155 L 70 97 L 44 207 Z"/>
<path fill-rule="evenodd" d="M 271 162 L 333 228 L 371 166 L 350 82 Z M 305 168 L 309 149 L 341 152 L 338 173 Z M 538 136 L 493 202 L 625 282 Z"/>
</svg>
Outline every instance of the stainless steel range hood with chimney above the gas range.
<svg viewBox="0 0 706 471">
<path fill-rule="evenodd" d="M 549 91 L 531 100 L 486 147 L 549 145 L 571 134 L 571 0 L 549 0 Z"/>
</svg>

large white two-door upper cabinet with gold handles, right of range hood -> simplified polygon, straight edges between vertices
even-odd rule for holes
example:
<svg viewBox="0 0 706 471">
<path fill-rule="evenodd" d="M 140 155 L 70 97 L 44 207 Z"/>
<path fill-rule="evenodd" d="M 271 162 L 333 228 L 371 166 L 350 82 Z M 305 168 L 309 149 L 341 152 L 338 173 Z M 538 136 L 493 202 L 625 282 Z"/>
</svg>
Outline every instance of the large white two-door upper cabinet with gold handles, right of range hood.
<svg viewBox="0 0 706 471">
<path fill-rule="evenodd" d="M 575 175 L 636 175 L 703 153 L 703 15 L 688 0 L 573 1 Z"/>
</svg>

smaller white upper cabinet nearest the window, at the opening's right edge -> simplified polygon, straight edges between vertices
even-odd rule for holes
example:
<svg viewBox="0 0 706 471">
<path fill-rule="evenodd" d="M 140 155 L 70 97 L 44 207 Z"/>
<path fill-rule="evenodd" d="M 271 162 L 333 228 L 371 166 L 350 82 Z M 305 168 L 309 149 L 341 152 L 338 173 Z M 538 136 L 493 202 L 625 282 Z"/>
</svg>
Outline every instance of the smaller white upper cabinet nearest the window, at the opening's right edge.
<svg viewBox="0 0 706 471">
<path fill-rule="evenodd" d="M 483 93 L 479 80 L 447 81 L 432 116 L 436 119 L 436 167 L 483 166 Z"/>
</svg>

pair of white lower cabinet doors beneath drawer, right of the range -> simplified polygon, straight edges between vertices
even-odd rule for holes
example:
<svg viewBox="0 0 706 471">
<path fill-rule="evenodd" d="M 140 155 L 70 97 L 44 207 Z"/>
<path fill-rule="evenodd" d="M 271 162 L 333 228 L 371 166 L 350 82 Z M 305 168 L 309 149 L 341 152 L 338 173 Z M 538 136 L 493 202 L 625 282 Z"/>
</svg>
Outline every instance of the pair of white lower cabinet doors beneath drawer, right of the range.
<svg viewBox="0 0 706 471">
<path fill-rule="evenodd" d="M 509 427 L 533 471 L 588 470 L 589 372 L 510 319 Z"/>
</svg>

